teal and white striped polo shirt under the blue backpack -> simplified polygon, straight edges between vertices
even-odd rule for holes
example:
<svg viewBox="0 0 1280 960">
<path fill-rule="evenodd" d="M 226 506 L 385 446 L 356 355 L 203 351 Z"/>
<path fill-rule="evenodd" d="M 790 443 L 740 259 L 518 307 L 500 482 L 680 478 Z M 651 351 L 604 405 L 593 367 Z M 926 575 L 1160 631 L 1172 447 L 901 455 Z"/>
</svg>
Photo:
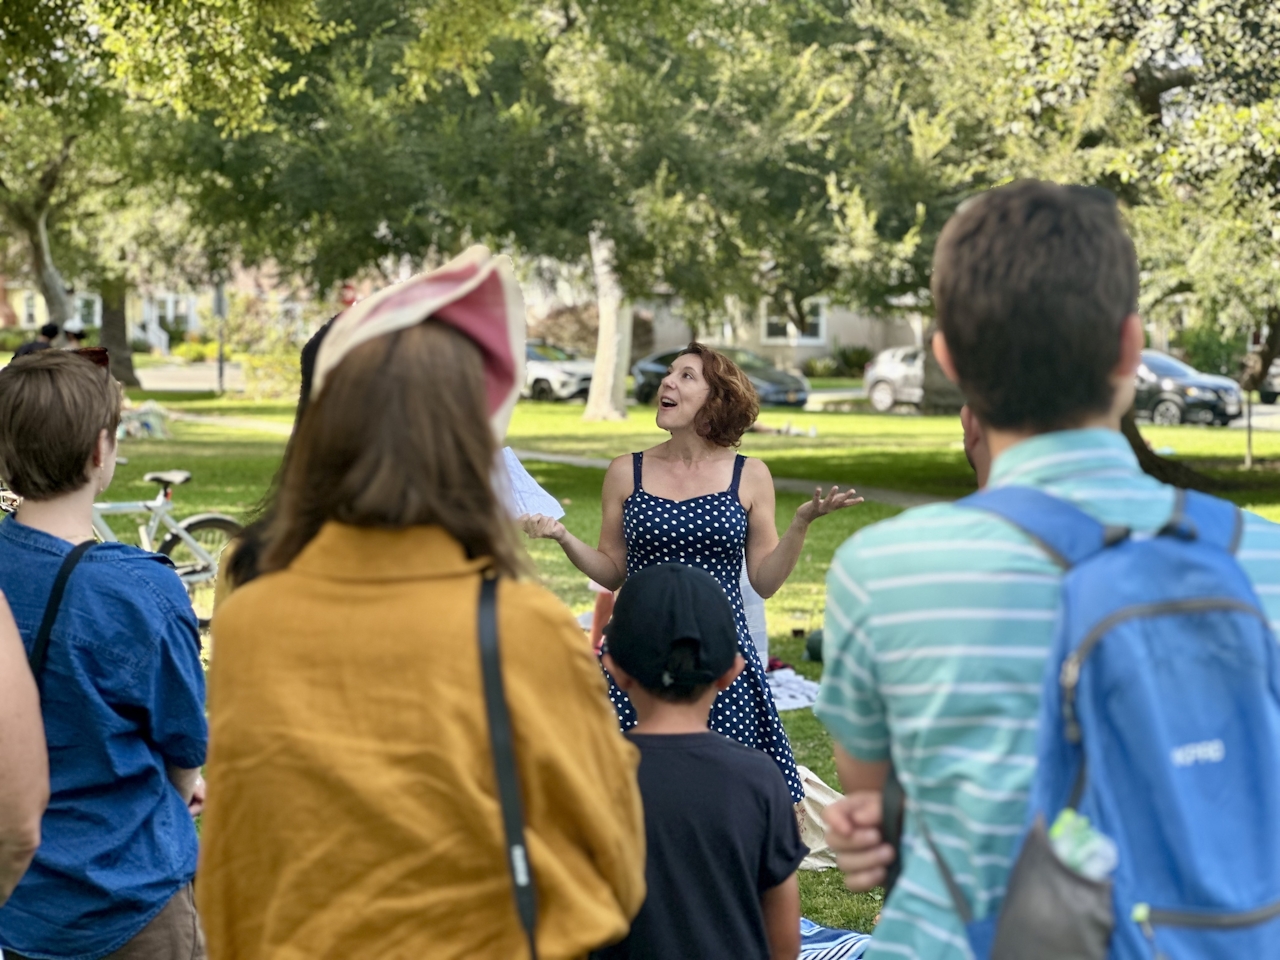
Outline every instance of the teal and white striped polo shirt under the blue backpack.
<svg viewBox="0 0 1280 960">
<path fill-rule="evenodd" d="M 991 474 L 991 486 L 1006 485 L 1043 489 L 1103 524 L 1146 532 L 1162 527 L 1174 504 L 1174 488 L 1143 474 L 1112 430 L 1064 430 L 1011 447 Z M 1238 557 L 1276 628 L 1280 526 L 1245 515 Z M 892 755 L 911 808 L 873 960 L 969 956 L 916 817 L 974 915 L 1000 909 L 1036 765 L 1060 577 L 1019 530 L 950 503 L 865 527 L 832 561 L 814 710 L 850 755 Z"/>
</svg>

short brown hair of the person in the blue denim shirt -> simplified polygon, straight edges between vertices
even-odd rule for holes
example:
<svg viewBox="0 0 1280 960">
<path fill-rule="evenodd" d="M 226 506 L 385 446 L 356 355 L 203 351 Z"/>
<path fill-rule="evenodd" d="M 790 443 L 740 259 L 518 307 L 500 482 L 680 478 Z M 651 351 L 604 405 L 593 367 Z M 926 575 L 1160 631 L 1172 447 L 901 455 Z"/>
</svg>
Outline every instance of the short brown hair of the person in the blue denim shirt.
<svg viewBox="0 0 1280 960">
<path fill-rule="evenodd" d="M 101 431 L 115 438 L 120 402 L 111 374 L 69 351 L 14 360 L 0 370 L 0 476 L 32 500 L 81 489 Z"/>
</svg>

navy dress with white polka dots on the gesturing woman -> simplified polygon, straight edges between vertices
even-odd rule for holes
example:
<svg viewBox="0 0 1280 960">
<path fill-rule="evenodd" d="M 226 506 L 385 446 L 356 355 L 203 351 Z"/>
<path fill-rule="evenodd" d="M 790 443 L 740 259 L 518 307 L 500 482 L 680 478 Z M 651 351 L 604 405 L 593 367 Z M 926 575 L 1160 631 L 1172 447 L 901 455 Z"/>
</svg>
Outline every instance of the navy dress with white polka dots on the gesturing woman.
<svg viewBox="0 0 1280 960">
<path fill-rule="evenodd" d="M 764 681 L 764 664 L 751 643 L 742 608 L 739 581 L 746 548 L 746 509 L 737 497 L 746 457 L 733 461 L 733 483 L 722 493 L 709 493 L 687 500 L 668 500 L 646 493 L 640 471 L 643 453 L 631 454 L 635 490 L 622 504 L 622 532 L 627 540 L 627 575 L 658 563 L 687 563 L 701 567 L 724 589 L 737 621 L 737 646 L 746 668 L 733 685 L 716 698 L 708 726 L 740 744 L 763 750 L 774 759 L 786 777 L 791 800 L 804 799 L 796 774 L 791 742 L 778 719 L 773 695 Z M 608 675 L 605 675 L 608 676 Z M 636 713 L 627 695 L 609 678 L 609 699 L 623 730 L 636 724 Z"/>
</svg>

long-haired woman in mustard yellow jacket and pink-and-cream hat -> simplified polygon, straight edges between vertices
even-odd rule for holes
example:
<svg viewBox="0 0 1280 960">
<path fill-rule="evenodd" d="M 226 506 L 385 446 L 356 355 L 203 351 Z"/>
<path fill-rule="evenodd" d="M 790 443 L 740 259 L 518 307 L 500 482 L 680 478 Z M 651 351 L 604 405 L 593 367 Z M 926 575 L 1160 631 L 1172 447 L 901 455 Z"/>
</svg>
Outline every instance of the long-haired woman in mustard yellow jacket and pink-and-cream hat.
<svg viewBox="0 0 1280 960">
<path fill-rule="evenodd" d="M 644 899 L 637 754 L 492 477 L 524 305 L 474 248 L 320 346 L 257 576 L 214 616 L 197 897 L 215 960 L 515 957 L 477 600 L 497 621 L 539 955 Z"/>
</svg>

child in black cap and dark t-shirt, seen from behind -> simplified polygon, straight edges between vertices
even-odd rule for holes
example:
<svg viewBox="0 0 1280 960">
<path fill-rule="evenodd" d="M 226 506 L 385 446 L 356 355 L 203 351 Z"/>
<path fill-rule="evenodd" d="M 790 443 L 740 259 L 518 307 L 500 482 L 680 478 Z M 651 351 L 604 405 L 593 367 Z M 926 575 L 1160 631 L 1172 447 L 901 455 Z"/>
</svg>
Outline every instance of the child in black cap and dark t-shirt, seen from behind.
<svg viewBox="0 0 1280 960">
<path fill-rule="evenodd" d="M 605 669 L 639 723 L 648 897 L 631 933 L 595 960 L 795 960 L 800 842 L 786 781 L 764 753 L 707 728 L 742 669 L 719 584 L 682 563 L 649 567 L 618 594 Z"/>
</svg>

